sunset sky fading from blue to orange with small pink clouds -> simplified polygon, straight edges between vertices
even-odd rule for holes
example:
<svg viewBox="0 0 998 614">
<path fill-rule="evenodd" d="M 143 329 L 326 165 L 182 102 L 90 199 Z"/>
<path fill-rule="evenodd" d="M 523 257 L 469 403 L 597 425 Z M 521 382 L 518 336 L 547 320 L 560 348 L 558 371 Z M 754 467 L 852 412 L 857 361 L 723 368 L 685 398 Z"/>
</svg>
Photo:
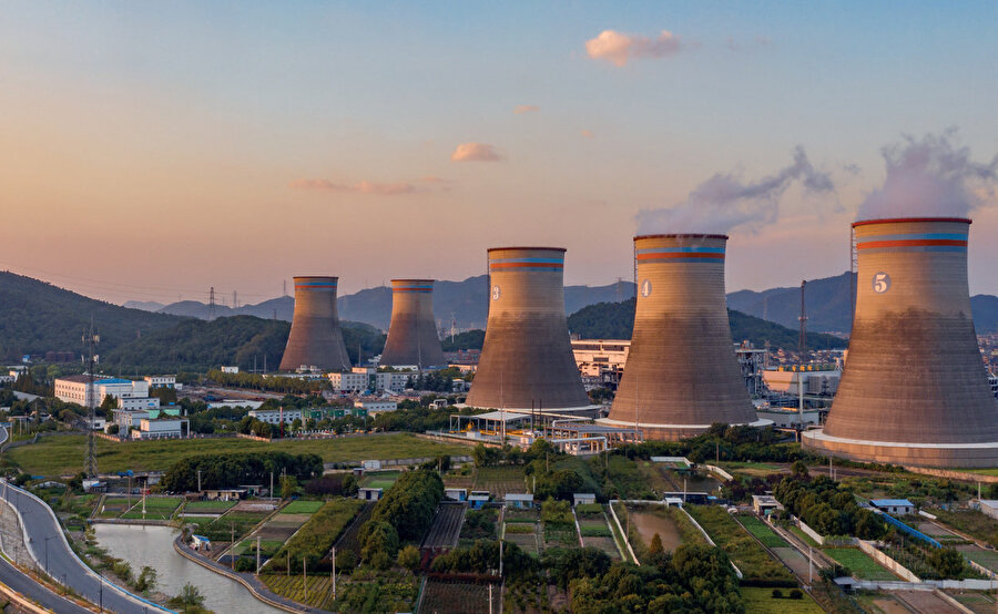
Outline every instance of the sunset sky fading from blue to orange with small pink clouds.
<svg viewBox="0 0 998 614">
<path fill-rule="evenodd" d="M 848 269 L 885 147 L 941 136 L 990 170 L 970 290 L 998 294 L 996 109 L 994 0 L 8 2 L 0 269 L 256 303 L 550 245 L 603 285 L 688 207 L 731 217 L 729 290 L 794 286 Z M 703 204 L 731 186 L 740 215 Z"/>
</svg>

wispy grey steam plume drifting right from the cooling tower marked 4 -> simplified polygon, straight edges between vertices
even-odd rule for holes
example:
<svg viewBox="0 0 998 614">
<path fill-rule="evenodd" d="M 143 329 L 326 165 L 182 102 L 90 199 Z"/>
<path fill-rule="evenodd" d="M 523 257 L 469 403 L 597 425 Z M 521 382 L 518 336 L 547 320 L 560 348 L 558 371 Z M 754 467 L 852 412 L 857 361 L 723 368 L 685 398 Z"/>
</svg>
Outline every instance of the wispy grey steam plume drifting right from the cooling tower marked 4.
<svg viewBox="0 0 998 614">
<path fill-rule="evenodd" d="M 771 223 L 778 216 L 780 197 L 795 182 L 811 193 L 835 191 L 831 176 L 816 171 L 798 146 L 793 164 L 773 175 L 745 183 L 719 173 L 678 205 L 639 212 L 639 233 L 727 233 L 743 224 Z"/>
</svg>

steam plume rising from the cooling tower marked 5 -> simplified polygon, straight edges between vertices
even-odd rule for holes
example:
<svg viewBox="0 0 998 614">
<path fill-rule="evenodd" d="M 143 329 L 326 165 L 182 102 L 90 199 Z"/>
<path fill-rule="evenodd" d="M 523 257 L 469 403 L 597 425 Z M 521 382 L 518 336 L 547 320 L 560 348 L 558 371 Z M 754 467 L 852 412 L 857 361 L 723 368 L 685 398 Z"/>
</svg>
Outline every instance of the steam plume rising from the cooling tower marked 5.
<svg viewBox="0 0 998 614">
<path fill-rule="evenodd" d="M 859 206 L 858 219 L 967 217 L 994 202 L 998 155 L 988 164 L 974 162 L 970 150 L 956 141 L 956 131 L 949 130 L 920 141 L 905 136 L 884 147 L 887 177 Z"/>
</svg>

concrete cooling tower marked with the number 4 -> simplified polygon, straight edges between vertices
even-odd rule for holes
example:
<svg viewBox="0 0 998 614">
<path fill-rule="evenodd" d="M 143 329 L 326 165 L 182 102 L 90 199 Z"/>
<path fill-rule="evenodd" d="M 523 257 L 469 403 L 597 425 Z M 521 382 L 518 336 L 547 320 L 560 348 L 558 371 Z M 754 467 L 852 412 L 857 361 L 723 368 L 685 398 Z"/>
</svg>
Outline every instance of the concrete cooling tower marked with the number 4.
<svg viewBox="0 0 998 614">
<path fill-rule="evenodd" d="M 646 439 L 680 439 L 713 422 L 757 421 L 731 338 L 725 235 L 634 237 L 634 334 L 610 416 Z"/>
</svg>

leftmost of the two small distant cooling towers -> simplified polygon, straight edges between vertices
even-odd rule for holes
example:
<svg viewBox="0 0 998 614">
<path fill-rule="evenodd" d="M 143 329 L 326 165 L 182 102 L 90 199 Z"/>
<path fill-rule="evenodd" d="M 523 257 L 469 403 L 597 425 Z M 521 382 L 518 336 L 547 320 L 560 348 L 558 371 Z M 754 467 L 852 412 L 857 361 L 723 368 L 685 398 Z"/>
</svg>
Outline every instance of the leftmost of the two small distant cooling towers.
<svg viewBox="0 0 998 614">
<path fill-rule="evenodd" d="M 295 315 L 282 371 L 315 366 L 324 371 L 349 370 L 336 313 L 336 277 L 295 277 Z"/>
</svg>

